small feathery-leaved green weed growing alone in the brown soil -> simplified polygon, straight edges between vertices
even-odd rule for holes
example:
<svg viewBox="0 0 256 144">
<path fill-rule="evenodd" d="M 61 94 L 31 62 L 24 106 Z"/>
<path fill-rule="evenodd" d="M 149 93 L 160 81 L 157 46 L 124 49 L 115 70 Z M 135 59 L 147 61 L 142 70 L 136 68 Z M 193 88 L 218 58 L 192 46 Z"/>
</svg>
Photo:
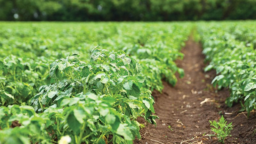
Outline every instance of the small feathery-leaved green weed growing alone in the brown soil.
<svg viewBox="0 0 256 144">
<path fill-rule="evenodd" d="M 227 121 L 224 119 L 223 116 L 221 116 L 221 118 L 219 119 L 219 122 L 216 121 L 210 121 L 211 123 L 210 126 L 212 132 L 215 132 L 217 134 L 217 138 L 221 143 L 224 143 L 224 140 L 226 139 L 226 137 L 230 134 L 230 131 L 233 129 L 233 125 L 232 122 L 227 124 Z M 211 136 L 216 136 L 215 135 L 211 135 Z"/>
</svg>

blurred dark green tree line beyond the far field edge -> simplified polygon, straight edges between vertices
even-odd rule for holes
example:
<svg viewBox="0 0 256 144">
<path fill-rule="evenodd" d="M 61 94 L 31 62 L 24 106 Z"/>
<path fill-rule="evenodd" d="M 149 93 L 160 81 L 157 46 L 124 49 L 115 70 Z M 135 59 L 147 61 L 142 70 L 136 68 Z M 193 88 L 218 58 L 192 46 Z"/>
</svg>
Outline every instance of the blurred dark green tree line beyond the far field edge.
<svg viewBox="0 0 256 144">
<path fill-rule="evenodd" d="M 0 20 L 245 20 L 256 19 L 255 5 L 255 0 L 0 0 Z"/>
</svg>

